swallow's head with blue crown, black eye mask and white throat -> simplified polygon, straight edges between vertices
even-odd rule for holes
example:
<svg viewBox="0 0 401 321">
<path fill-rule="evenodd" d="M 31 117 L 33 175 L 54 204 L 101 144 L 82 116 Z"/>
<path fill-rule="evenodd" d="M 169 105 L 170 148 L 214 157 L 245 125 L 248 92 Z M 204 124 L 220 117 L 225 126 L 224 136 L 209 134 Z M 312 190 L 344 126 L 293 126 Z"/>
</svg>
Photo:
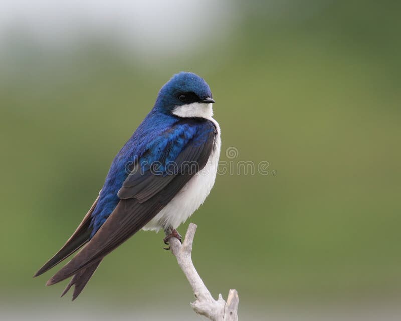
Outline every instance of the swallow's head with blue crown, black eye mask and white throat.
<svg viewBox="0 0 401 321">
<path fill-rule="evenodd" d="M 159 91 L 155 108 L 182 118 L 213 115 L 212 93 L 208 84 L 191 72 L 175 74 Z"/>
</svg>

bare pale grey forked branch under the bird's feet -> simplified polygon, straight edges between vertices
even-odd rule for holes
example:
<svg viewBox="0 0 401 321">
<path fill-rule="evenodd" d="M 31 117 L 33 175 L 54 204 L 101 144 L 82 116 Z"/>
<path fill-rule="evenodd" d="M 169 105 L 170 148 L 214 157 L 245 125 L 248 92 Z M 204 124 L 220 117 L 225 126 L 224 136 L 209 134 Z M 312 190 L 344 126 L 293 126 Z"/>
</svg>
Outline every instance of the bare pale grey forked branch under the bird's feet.
<svg viewBox="0 0 401 321">
<path fill-rule="evenodd" d="M 215 300 L 192 263 L 192 244 L 196 228 L 196 224 L 189 224 L 182 245 L 175 237 L 169 239 L 171 252 L 176 257 L 179 267 L 188 279 L 196 298 L 195 302 L 191 303 L 191 306 L 197 314 L 204 315 L 212 321 L 238 321 L 239 298 L 237 291 L 229 291 L 227 302 L 221 294 Z M 170 231 L 165 232 L 168 235 Z"/>
</svg>

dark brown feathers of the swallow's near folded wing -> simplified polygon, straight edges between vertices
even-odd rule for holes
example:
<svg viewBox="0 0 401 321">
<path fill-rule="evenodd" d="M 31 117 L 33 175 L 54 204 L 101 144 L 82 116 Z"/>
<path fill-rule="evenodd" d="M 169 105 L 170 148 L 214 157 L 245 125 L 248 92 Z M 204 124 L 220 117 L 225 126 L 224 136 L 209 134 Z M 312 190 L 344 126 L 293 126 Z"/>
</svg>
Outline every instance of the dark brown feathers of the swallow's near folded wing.
<svg viewBox="0 0 401 321">
<path fill-rule="evenodd" d="M 128 190 L 127 192 L 124 191 L 126 199 L 122 199 L 117 204 L 114 211 L 88 244 L 58 271 L 47 282 L 47 285 L 60 282 L 99 261 L 146 225 L 189 179 L 206 165 L 213 150 L 215 134 L 216 132 L 212 130 L 207 139 L 200 144 L 193 141 L 189 142 L 177 157 L 177 164 L 181 165 L 181 168 L 179 168 L 178 173 L 170 175 L 171 177 L 168 179 L 162 175 L 134 174 L 137 176 L 131 177 L 130 181 L 136 180 L 141 189 L 136 189 L 133 186 L 132 189 L 129 189 L 130 193 Z M 197 171 L 183 168 L 185 161 L 188 160 L 198 164 Z M 147 182 L 146 185 L 141 184 L 141 177 Z M 168 181 L 167 184 L 165 184 L 166 181 Z M 156 186 L 158 189 L 155 188 Z M 146 197 L 141 198 L 142 195 L 146 195 Z"/>
</svg>

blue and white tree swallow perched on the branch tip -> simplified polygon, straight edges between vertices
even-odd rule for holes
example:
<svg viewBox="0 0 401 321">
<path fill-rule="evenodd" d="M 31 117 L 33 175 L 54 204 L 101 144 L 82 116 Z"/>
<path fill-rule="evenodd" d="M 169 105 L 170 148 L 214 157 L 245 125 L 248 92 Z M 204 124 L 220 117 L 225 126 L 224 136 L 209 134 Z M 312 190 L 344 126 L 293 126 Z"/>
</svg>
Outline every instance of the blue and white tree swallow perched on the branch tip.
<svg viewBox="0 0 401 321">
<path fill-rule="evenodd" d="M 176 228 L 205 201 L 216 178 L 220 127 L 212 93 L 198 75 L 180 72 L 114 158 L 99 196 L 64 246 L 34 276 L 82 249 L 46 285 L 72 277 L 81 293 L 102 259 L 140 229 Z M 84 246 L 85 245 L 85 246 Z"/>
</svg>

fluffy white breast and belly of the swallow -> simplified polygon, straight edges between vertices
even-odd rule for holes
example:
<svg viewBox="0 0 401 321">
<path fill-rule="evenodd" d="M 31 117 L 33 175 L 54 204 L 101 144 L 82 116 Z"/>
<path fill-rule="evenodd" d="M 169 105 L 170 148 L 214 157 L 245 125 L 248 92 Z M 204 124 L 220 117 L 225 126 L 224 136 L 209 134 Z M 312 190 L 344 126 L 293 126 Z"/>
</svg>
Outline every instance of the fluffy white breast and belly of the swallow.
<svg viewBox="0 0 401 321">
<path fill-rule="evenodd" d="M 205 167 L 196 173 L 188 183 L 174 196 L 174 198 L 144 227 L 143 230 L 159 231 L 165 227 L 176 229 L 181 223 L 195 212 L 209 195 L 215 184 L 217 167 L 220 156 L 220 127 L 213 121 L 217 128 L 215 148 L 209 156 Z"/>
</svg>

